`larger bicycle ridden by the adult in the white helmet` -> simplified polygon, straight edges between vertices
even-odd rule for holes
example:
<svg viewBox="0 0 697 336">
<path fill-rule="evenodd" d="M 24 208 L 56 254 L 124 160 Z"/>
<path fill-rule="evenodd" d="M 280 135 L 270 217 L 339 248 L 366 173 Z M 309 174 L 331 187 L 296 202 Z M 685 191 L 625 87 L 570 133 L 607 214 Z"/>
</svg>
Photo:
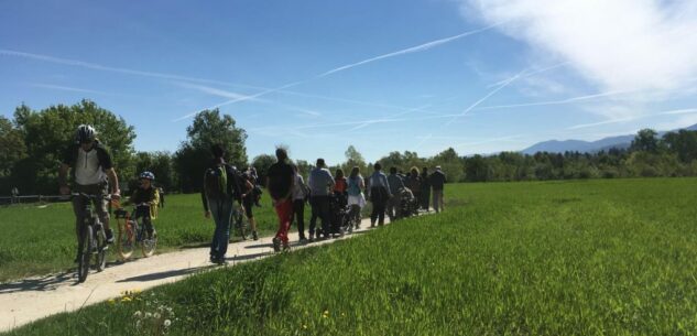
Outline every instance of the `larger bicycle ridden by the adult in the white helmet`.
<svg viewBox="0 0 697 336">
<path fill-rule="evenodd" d="M 92 210 L 92 204 L 95 200 L 110 200 L 110 196 L 102 195 L 89 195 L 85 193 L 72 193 L 70 196 L 85 198 L 85 208 L 83 209 L 85 225 L 80 232 L 80 242 L 78 242 L 78 265 L 77 265 L 77 281 L 85 282 L 87 274 L 89 273 L 89 263 L 92 256 L 95 256 L 95 268 L 98 272 L 104 271 L 107 265 L 107 234 L 104 228 L 104 224 L 96 212 Z"/>
</svg>

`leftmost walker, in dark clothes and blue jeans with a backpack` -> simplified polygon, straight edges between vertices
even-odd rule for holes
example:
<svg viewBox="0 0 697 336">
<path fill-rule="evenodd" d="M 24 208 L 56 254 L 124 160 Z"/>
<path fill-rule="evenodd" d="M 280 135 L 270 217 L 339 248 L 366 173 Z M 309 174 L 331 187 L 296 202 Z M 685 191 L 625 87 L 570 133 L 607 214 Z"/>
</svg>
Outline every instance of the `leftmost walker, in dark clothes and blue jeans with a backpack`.
<svg viewBox="0 0 697 336">
<path fill-rule="evenodd" d="M 213 162 L 204 174 L 204 188 L 200 193 L 206 218 L 213 219 L 216 229 L 210 242 L 210 262 L 225 263 L 230 240 L 230 224 L 232 219 L 233 202 L 242 204 L 242 193 L 235 167 L 225 162 L 225 150 L 220 144 L 210 149 Z"/>
</svg>

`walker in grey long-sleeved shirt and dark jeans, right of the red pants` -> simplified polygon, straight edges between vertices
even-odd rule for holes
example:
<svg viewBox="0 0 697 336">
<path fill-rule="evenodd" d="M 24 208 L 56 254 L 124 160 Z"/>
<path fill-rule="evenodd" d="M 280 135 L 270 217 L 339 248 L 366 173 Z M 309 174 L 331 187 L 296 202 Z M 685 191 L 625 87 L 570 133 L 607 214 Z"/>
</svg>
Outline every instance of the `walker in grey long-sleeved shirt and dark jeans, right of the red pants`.
<svg viewBox="0 0 697 336">
<path fill-rule="evenodd" d="M 317 217 L 322 219 L 322 232 L 329 238 L 329 191 L 334 189 L 334 177 L 324 167 L 325 160 L 317 159 L 317 165 L 309 172 L 307 185 L 309 185 L 309 205 L 312 217 L 309 218 L 309 241 L 314 241 Z M 317 234 L 319 238 L 319 232 Z"/>
</svg>

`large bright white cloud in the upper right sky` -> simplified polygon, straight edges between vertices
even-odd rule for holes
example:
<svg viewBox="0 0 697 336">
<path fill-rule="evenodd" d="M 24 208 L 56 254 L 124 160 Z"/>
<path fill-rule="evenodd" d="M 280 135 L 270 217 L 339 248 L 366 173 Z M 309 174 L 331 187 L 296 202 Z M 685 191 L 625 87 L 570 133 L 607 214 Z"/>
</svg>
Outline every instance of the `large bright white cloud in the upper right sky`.
<svg viewBox="0 0 697 336">
<path fill-rule="evenodd" d="M 601 90 L 675 93 L 697 75 L 694 0 L 461 0 L 465 15 L 551 54 Z"/>
</svg>

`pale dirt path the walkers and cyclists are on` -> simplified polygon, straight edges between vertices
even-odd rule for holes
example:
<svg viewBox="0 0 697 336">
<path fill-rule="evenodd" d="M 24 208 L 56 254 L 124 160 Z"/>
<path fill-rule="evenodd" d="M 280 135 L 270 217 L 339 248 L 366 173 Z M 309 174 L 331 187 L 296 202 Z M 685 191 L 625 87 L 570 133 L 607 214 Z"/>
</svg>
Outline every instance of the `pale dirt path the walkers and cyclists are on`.
<svg viewBox="0 0 697 336">
<path fill-rule="evenodd" d="M 358 231 L 364 231 L 368 227 L 370 221 L 363 219 Z M 347 235 L 341 239 L 356 236 Z M 228 247 L 228 267 L 273 254 L 271 238 L 231 243 Z M 312 247 L 337 240 L 300 246 L 297 238 L 297 232 L 290 234 L 292 248 Z M 84 283 L 77 283 L 75 271 L 72 270 L 0 284 L 0 332 L 53 314 L 76 311 L 81 306 L 118 297 L 123 291 L 145 290 L 211 269 L 214 267 L 208 262 L 208 248 L 195 248 L 110 264 L 100 273 L 91 271 Z"/>
</svg>

